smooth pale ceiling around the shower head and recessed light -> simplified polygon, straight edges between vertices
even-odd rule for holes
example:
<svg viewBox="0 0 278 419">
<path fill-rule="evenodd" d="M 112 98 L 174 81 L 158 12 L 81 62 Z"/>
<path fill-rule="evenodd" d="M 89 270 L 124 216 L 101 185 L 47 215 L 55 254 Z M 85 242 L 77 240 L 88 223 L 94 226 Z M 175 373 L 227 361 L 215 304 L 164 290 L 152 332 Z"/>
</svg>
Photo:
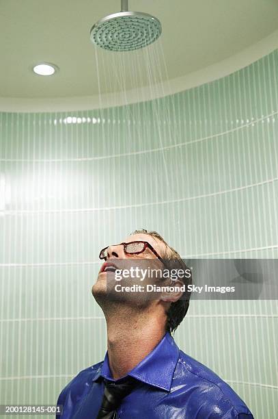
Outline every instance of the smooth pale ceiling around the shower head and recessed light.
<svg viewBox="0 0 278 419">
<path fill-rule="evenodd" d="M 129 9 L 160 19 L 169 79 L 221 62 L 278 29 L 277 0 L 130 0 Z M 89 29 L 118 11 L 120 0 L 0 0 L 0 97 L 98 94 Z M 57 64 L 59 73 L 34 75 L 31 66 L 42 61 Z M 129 77 L 126 88 L 133 87 Z"/>
</svg>

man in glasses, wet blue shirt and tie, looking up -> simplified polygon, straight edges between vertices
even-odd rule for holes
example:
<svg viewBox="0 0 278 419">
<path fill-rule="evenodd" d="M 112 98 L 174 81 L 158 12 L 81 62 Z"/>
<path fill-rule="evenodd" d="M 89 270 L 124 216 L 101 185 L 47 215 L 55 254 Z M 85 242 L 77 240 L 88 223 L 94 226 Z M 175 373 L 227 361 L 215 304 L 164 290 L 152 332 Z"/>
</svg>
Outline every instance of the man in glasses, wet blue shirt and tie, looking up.
<svg viewBox="0 0 278 419">
<path fill-rule="evenodd" d="M 139 230 L 102 249 L 100 258 L 105 263 L 92 294 L 105 314 L 107 353 L 62 390 L 57 405 L 64 411 L 57 418 L 252 419 L 232 388 L 180 351 L 171 337 L 189 307 L 182 291 L 162 292 L 156 299 L 107 292 L 108 276 L 121 261 L 175 260 L 186 268 L 180 255 L 158 233 Z"/>
</svg>

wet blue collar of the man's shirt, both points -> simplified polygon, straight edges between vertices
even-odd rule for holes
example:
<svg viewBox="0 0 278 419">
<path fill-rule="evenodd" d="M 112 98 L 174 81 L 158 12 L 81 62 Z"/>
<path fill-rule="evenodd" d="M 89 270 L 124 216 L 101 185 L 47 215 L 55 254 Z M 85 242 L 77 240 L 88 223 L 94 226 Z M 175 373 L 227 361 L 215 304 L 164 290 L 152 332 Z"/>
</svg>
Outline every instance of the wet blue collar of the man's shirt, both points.
<svg viewBox="0 0 278 419">
<path fill-rule="evenodd" d="M 179 348 L 170 333 L 167 332 L 152 352 L 142 359 L 133 370 L 130 370 L 128 375 L 143 383 L 154 385 L 154 387 L 169 392 L 173 372 L 178 362 L 178 355 Z M 102 367 L 98 369 L 93 381 L 96 381 L 100 375 L 105 379 L 115 381 L 111 376 L 108 353 L 105 354 Z"/>
</svg>

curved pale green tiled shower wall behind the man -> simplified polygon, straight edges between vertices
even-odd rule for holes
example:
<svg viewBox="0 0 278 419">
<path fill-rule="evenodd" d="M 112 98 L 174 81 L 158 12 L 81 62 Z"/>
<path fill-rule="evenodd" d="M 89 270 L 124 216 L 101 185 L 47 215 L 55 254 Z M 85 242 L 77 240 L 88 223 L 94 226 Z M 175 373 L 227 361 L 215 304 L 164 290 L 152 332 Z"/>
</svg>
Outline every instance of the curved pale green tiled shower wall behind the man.
<svg viewBox="0 0 278 419">
<path fill-rule="evenodd" d="M 154 229 L 183 257 L 277 257 L 278 51 L 171 97 L 0 114 L 0 403 L 56 403 L 105 354 L 98 251 Z M 176 341 L 278 417 L 277 301 L 192 301 Z"/>
</svg>

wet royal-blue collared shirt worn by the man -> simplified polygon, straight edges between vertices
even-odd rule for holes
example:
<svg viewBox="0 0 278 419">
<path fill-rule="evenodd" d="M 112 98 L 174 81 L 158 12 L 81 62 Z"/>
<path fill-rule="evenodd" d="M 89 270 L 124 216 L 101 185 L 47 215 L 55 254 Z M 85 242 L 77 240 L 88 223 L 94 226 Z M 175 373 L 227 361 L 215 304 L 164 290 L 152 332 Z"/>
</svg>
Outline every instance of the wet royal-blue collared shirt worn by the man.
<svg viewBox="0 0 278 419">
<path fill-rule="evenodd" d="M 123 399 L 117 418 L 253 419 L 230 385 L 180 351 L 169 333 L 128 375 L 139 385 Z M 115 381 L 107 353 L 104 361 L 79 372 L 62 390 L 57 404 L 64 411 L 57 419 L 95 419 L 104 393 L 103 377 Z"/>
</svg>

